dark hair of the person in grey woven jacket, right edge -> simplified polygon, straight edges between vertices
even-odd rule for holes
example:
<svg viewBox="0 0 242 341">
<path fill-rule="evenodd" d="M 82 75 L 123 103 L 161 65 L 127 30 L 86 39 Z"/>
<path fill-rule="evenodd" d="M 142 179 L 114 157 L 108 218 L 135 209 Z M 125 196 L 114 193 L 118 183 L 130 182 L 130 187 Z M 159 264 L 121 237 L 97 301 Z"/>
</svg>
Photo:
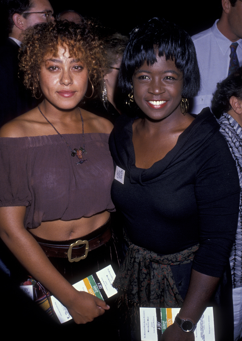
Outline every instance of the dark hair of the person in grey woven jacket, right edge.
<svg viewBox="0 0 242 341">
<path fill-rule="evenodd" d="M 216 118 L 219 118 L 232 108 L 229 103 L 232 96 L 242 100 L 242 67 L 238 68 L 221 83 L 217 83 L 217 89 L 212 100 L 212 112 Z"/>
</svg>

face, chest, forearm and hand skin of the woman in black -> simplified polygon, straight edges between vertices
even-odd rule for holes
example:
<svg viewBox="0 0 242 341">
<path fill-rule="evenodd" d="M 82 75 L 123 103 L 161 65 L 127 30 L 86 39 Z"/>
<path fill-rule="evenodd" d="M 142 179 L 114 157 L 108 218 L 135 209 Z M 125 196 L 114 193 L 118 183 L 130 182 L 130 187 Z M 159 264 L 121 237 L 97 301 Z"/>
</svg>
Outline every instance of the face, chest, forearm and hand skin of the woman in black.
<svg viewBox="0 0 242 341">
<path fill-rule="evenodd" d="M 191 124 L 194 117 L 181 112 L 183 74 L 174 62 L 157 57 L 157 63 L 144 63 L 133 75 L 134 100 L 144 113 L 133 123 L 133 146 L 136 166 L 150 168 L 163 159 L 176 145 L 179 135 Z M 166 104 L 155 107 L 150 101 Z M 180 318 L 197 323 L 207 307 L 219 278 L 191 271 L 189 288 L 179 312 Z M 194 341 L 194 333 L 184 332 L 176 323 L 169 326 L 160 341 Z"/>
</svg>

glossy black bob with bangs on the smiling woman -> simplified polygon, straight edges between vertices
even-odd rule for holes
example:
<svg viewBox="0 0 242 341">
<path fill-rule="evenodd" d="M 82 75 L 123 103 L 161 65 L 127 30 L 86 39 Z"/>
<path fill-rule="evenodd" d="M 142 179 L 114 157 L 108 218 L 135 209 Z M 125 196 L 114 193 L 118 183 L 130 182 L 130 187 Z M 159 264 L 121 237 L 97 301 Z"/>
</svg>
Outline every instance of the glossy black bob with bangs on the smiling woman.
<svg viewBox="0 0 242 341">
<path fill-rule="evenodd" d="M 132 30 L 119 72 L 119 86 L 127 95 L 132 90 L 132 76 L 144 62 L 153 65 L 158 57 L 174 60 L 183 72 L 182 96 L 194 97 L 200 89 L 200 73 L 195 46 L 184 30 L 164 19 L 153 18 Z"/>
</svg>

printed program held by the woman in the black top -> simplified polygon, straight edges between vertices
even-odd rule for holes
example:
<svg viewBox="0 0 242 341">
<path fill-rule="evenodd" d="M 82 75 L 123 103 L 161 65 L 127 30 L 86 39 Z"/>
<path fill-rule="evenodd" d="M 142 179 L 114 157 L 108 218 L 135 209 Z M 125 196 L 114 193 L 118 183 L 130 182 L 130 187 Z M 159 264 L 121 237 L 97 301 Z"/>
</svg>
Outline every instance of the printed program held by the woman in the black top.
<svg viewBox="0 0 242 341">
<path fill-rule="evenodd" d="M 162 332 L 171 325 L 180 308 L 140 308 L 142 341 L 159 341 Z M 195 341 L 215 341 L 213 308 L 208 307 L 197 323 Z"/>
</svg>

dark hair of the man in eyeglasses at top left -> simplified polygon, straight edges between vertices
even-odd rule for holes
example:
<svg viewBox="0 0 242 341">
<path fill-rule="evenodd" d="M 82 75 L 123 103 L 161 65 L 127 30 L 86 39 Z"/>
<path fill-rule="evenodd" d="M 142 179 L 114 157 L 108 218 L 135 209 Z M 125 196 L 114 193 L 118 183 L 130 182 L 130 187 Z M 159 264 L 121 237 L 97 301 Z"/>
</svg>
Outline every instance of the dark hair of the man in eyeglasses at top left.
<svg viewBox="0 0 242 341">
<path fill-rule="evenodd" d="M 13 14 L 23 14 L 24 12 L 29 11 L 33 5 L 31 0 L 1 0 L 2 18 L 5 20 L 8 33 L 11 33 L 14 26 Z M 23 17 L 26 19 L 28 15 L 29 14 L 24 13 Z"/>
</svg>

